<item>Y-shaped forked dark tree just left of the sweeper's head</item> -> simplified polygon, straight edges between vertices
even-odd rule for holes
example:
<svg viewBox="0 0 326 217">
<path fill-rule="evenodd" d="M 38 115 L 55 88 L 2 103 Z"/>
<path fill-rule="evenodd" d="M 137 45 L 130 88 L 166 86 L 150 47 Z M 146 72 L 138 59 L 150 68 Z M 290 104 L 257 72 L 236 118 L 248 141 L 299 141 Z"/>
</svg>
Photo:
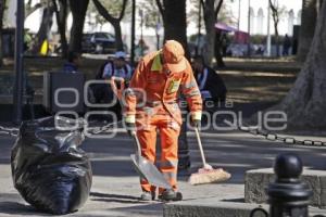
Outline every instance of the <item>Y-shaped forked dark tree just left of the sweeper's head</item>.
<svg viewBox="0 0 326 217">
<path fill-rule="evenodd" d="M 113 26 L 115 33 L 115 48 L 117 50 L 124 50 L 124 43 L 122 39 L 122 30 L 121 30 L 121 21 L 125 15 L 125 10 L 127 7 L 128 0 L 123 0 L 123 4 L 121 8 L 121 12 L 117 17 L 114 17 L 109 11 L 103 7 L 103 4 L 99 0 L 93 0 L 93 4 L 99 11 L 99 13 Z"/>
</svg>

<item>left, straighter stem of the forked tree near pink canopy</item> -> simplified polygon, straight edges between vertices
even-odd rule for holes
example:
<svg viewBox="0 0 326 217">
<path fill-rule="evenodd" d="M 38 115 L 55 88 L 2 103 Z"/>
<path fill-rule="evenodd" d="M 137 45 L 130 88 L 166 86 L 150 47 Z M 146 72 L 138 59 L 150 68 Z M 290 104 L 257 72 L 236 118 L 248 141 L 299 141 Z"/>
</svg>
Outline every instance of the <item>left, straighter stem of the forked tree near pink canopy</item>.
<svg viewBox="0 0 326 217">
<path fill-rule="evenodd" d="M 216 23 L 217 17 L 215 16 L 214 2 L 215 2 L 215 0 L 206 0 L 204 3 L 204 11 L 203 11 L 204 24 L 205 24 L 205 30 L 206 30 L 206 43 L 205 43 L 204 60 L 205 60 L 205 64 L 208 64 L 208 65 L 212 65 L 214 50 L 216 48 L 215 46 L 216 44 L 218 46 L 218 42 L 215 44 L 215 38 L 216 38 L 215 23 Z M 213 46 L 213 44 L 215 44 L 215 46 Z M 215 54 L 216 53 L 218 53 L 218 51 L 215 51 Z M 218 58 L 220 61 L 221 61 L 221 59 Z M 216 59 L 216 62 L 217 62 L 217 59 Z M 223 62 L 223 60 L 222 60 L 222 62 Z"/>
</svg>

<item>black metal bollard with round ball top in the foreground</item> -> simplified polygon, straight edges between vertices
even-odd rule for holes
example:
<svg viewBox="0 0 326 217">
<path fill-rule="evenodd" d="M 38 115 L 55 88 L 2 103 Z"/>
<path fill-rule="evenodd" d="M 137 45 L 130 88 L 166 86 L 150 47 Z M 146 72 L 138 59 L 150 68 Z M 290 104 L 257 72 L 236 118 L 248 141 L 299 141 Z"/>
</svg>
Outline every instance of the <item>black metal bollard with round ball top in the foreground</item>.
<svg viewBox="0 0 326 217">
<path fill-rule="evenodd" d="M 302 162 L 294 154 L 276 157 L 274 171 L 276 180 L 266 190 L 271 217 L 308 217 L 309 199 L 312 191 L 299 177 Z"/>
</svg>

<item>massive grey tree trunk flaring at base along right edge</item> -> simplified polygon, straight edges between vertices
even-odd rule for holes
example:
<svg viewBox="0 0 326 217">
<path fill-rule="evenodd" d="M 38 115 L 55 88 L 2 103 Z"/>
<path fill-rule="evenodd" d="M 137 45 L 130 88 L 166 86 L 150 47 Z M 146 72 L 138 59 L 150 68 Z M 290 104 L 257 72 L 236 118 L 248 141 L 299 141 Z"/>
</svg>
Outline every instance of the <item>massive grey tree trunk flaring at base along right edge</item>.
<svg viewBox="0 0 326 217">
<path fill-rule="evenodd" d="M 326 127 L 326 1 L 323 1 L 316 30 L 293 88 L 280 103 L 290 127 Z"/>
</svg>

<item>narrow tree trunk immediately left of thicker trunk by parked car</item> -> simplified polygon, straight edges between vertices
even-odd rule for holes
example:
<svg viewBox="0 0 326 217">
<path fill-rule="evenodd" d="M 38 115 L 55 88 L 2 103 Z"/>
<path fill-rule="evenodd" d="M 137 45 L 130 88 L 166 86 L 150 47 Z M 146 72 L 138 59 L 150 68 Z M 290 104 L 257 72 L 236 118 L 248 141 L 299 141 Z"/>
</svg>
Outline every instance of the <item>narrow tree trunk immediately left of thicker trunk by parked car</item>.
<svg viewBox="0 0 326 217">
<path fill-rule="evenodd" d="M 53 0 L 53 3 L 55 8 L 55 17 L 57 17 L 57 24 L 60 34 L 61 56 L 65 59 L 68 50 L 67 40 L 65 36 L 66 17 L 67 17 L 67 0 L 59 0 L 59 7 L 57 4 L 57 0 Z"/>
</svg>

